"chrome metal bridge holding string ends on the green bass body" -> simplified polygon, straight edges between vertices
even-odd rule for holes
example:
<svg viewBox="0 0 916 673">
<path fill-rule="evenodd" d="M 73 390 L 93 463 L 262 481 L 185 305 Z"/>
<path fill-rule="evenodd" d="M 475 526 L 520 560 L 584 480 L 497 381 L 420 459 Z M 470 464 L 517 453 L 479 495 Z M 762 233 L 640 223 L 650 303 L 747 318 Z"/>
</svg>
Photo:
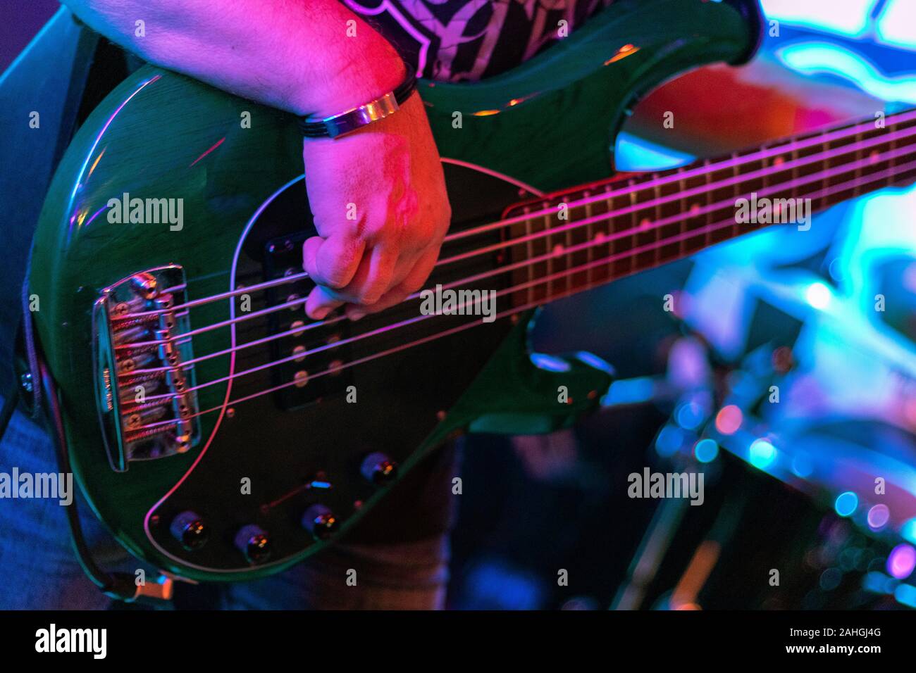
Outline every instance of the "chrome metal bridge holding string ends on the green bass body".
<svg viewBox="0 0 916 673">
<path fill-rule="evenodd" d="M 184 453 L 200 440 L 184 270 L 136 273 L 93 308 L 96 406 L 115 472 Z"/>
</svg>

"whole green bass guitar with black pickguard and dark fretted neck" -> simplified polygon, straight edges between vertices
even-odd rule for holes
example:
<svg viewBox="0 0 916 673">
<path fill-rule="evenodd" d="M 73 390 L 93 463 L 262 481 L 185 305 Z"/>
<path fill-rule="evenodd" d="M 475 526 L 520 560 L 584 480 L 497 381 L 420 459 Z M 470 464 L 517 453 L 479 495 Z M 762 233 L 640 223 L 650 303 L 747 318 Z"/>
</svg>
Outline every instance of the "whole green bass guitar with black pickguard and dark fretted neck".
<svg viewBox="0 0 916 673">
<path fill-rule="evenodd" d="M 796 203 L 916 179 L 916 112 L 615 176 L 638 98 L 744 62 L 760 26 L 755 2 L 620 0 L 514 71 L 420 81 L 454 213 L 435 300 L 357 322 L 304 314 L 294 118 L 136 71 L 63 157 L 28 278 L 94 514 L 192 581 L 284 570 L 454 433 L 548 432 L 599 404 L 597 358 L 532 362 L 541 305 L 785 222 Z M 738 216 L 743 198 L 769 216 Z"/>
</svg>

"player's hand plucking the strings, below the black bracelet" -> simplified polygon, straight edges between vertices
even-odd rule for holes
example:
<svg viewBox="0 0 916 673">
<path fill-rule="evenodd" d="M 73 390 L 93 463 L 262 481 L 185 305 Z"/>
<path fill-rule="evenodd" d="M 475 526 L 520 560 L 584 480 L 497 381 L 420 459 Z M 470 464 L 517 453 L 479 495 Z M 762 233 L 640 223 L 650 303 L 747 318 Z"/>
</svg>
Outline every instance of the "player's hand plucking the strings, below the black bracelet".
<svg viewBox="0 0 916 673">
<path fill-rule="evenodd" d="M 305 183 L 319 235 L 302 246 L 318 285 L 306 312 L 346 305 L 357 320 L 420 289 L 435 266 L 451 209 L 420 96 L 337 139 L 304 143 Z"/>
</svg>

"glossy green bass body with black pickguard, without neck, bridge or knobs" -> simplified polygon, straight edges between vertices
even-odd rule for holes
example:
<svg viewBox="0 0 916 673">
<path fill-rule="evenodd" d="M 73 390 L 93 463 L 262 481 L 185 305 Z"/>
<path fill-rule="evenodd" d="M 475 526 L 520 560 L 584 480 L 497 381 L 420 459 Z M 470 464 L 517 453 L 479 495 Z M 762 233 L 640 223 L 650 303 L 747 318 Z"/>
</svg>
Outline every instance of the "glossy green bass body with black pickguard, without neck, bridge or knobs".
<svg viewBox="0 0 916 673">
<path fill-rule="evenodd" d="M 642 93 L 705 63 L 747 60 L 758 29 L 753 2 L 619 0 L 514 71 L 473 84 L 420 81 L 445 162 L 453 231 L 493 222 L 540 192 L 609 177 L 616 132 Z M 301 173 L 301 138 L 289 115 L 146 66 L 73 138 L 38 224 L 29 277 L 40 302 L 34 319 L 82 493 L 130 552 L 193 581 L 262 577 L 345 535 L 398 487 L 397 480 L 378 485 L 365 478 L 367 454 L 396 461 L 402 477 L 457 432 L 567 427 L 598 404 L 610 383 L 590 358 L 533 364 L 526 311 L 338 375 L 308 378 L 430 332 L 407 328 L 329 346 L 314 363 L 310 356 L 288 362 L 281 374 L 247 377 L 248 388 L 229 379 L 203 387 L 196 408 L 217 410 L 197 418 L 191 446 L 181 452 L 128 460 L 106 446 L 99 409 L 106 395 L 110 406 L 106 378 L 114 374 L 98 362 L 100 293 L 155 268 L 180 267 L 185 302 L 300 272 L 299 242 L 311 231 Z M 125 193 L 181 199 L 183 226 L 112 222 L 109 201 Z M 476 264 L 455 270 L 466 274 L 496 261 Z M 259 308 L 295 296 L 271 292 L 258 293 L 255 301 L 267 302 Z M 232 309 L 237 299 L 191 309 L 190 328 L 242 315 Z M 288 330 L 294 320 L 307 320 L 301 306 L 252 327 L 240 322 L 237 331 L 203 331 L 185 356 L 229 351 Z M 274 343 L 278 350 L 260 360 L 246 359 L 254 349 L 206 359 L 195 364 L 193 382 L 219 381 L 283 357 L 296 344 L 349 343 L 386 320 L 383 313 L 320 326 Z M 301 386 L 232 403 L 303 371 Z M 341 524 L 330 538 L 302 526 L 303 512 L 316 504 Z M 173 534 L 183 512 L 206 522 L 202 547 L 186 548 Z M 269 557 L 245 558 L 237 539 L 245 526 L 269 536 Z"/>
</svg>

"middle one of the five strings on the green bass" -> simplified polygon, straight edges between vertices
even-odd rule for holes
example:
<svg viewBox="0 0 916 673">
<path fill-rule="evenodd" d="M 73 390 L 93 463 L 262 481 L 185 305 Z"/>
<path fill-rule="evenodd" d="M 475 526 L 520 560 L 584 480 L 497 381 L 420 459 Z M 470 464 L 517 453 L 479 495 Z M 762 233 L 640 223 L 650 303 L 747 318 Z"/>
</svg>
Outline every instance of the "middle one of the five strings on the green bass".
<svg viewBox="0 0 916 673">
<path fill-rule="evenodd" d="M 904 147 L 904 148 L 899 148 L 899 149 L 892 150 L 892 151 L 886 152 L 886 153 L 884 153 L 884 154 L 878 155 L 878 157 L 883 157 L 883 158 L 869 157 L 867 160 L 863 159 L 862 161 L 856 162 L 856 163 L 854 163 L 854 164 L 844 165 L 844 166 L 841 166 L 841 167 L 834 167 L 834 168 L 824 169 L 824 170 L 818 171 L 817 173 L 811 173 L 811 174 L 809 174 L 809 175 L 802 176 L 802 177 L 800 177 L 800 178 L 798 178 L 798 179 L 790 180 L 790 181 L 788 181 L 788 182 L 783 182 L 783 183 L 779 183 L 779 184 L 777 184 L 777 185 L 771 185 L 771 186 L 768 185 L 768 186 L 766 187 L 766 189 L 762 189 L 762 190 L 760 190 L 758 193 L 759 193 L 760 195 L 770 194 L 770 193 L 779 193 L 780 191 L 787 189 L 787 185 L 788 185 L 788 188 L 793 188 L 793 187 L 796 187 L 796 186 L 799 185 L 799 184 L 806 184 L 806 183 L 809 183 L 809 182 L 815 182 L 815 181 L 819 181 L 819 180 L 823 180 L 823 179 L 834 178 L 834 177 L 837 176 L 837 175 L 841 175 L 841 174 L 843 174 L 843 173 L 851 172 L 851 171 L 856 170 L 856 169 L 858 169 L 858 168 L 862 168 L 862 165 L 861 165 L 862 162 L 867 161 L 867 162 L 869 162 L 869 163 L 878 163 L 878 162 L 881 162 L 881 161 L 888 161 L 888 160 L 890 160 L 890 159 L 893 159 L 893 158 L 896 158 L 896 157 L 899 157 L 899 156 L 901 156 L 901 155 L 908 154 L 908 153 L 909 153 L 909 151 L 908 151 L 907 148 L 905 148 L 905 147 Z M 549 260 L 551 260 L 551 259 L 555 259 L 558 255 L 573 255 L 573 254 L 576 253 L 576 252 L 581 252 L 582 250 L 585 250 L 585 249 L 588 249 L 588 248 L 591 248 L 591 247 L 594 247 L 594 246 L 597 246 L 597 245 L 611 244 L 611 243 L 615 242 L 616 240 L 618 240 L 618 239 L 620 239 L 620 238 L 626 238 L 627 236 L 638 235 L 638 234 L 645 235 L 646 233 L 654 232 L 654 231 L 660 229 L 661 227 L 669 226 L 669 225 L 671 225 L 672 223 L 684 223 L 684 222 L 689 222 L 690 220 L 693 220 L 693 219 L 695 219 L 695 218 L 697 218 L 697 217 L 699 217 L 699 216 L 701 216 L 701 215 L 703 215 L 703 214 L 716 212 L 716 211 L 719 211 L 719 210 L 723 210 L 724 208 L 727 208 L 727 207 L 729 207 L 729 206 L 733 206 L 733 205 L 734 205 L 734 201 L 735 201 L 734 198 L 729 198 L 729 199 L 725 199 L 725 200 L 722 200 L 722 201 L 716 201 L 716 202 L 714 202 L 714 203 L 711 203 L 711 204 L 708 204 L 708 205 L 706 205 L 706 206 L 703 206 L 702 208 L 698 208 L 698 209 L 692 210 L 691 212 L 688 212 L 688 213 L 678 213 L 678 214 L 676 214 L 676 215 L 671 215 L 671 216 L 669 216 L 669 217 L 667 217 L 667 218 L 662 218 L 662 219 L 660 219 L 660 220 L 654 221 L 654 222 L 652 223 L 653 226 L 651 226 L 651 227 L 636 226 L 636 227 L 633 227 L 633 228 L 630 228 L 630 229 L 622 230 L 622 231 L 620 231 L 620 232 L 606 233 L 606 234 L 603 234 L 603 235 L 601 236 L 600 239 L 593 239 L 593 240 L 584 242 L 584 243 L 582 243 L 582 244 L 573 245 L 572 247 L 565 247 L 565 246 L 564 246 L 564 247 L 562 248 L 562 250 L 560 250 L 559 252 L 558 252 L 558 251 L 551 251 L 551 252 L 546 253 L 546 254 L 544 254 L 544 255 L 540 255 L 539 257 L 534 257 L 534 258 L 519 260 L 519 262 L 517 262 L 517 263 L 515 263 L 515 264 L 512 264 L 512 265 L 500 266 L 500 267 L 497 267 L 497 268 L 494 268 L 494 269 L 490 269 L 490 270 L 488 270 L 488 271 L 485 271 L 485 272 L 476 274 L 476 275 L 471 276 L 471 277 L 464 277 L 464 278 L 460 278 L 460 279 L 458 279 L 458 280 L 451 281 L 450 283 L 447 283 L 447 284 L 442 284 L 442 289 L 456 288 L 456 287 L 460 287 L 460 286 L 462 286 L 462 285 L 466 285 L 466 284 L 469 284 L 469 283 L 476 282 L 476 281 L 478 281 L 478 280 L 483 280 L 483 279 L 485 279 L 485 278 L 487 278 L 487 277 L 499 276 L 499 275 L 505 274 L 505 273 L 507 273 L 507 272 L 509 272 L 509 271 L 517 270 L 518 268 L 523 268 L 523 267 L 526 267 L 526 266 L 535 266 L 535 265 L 540 264 L 540 263 L 542 263 L 542 262 L 546 262 L 546 261 L 549 261 Z M 637 211 L 639 211 L 639 210 L 646 210 L 646 209 L 648 209 L 648 208 L 650 207 L 649 204 L 648 204 L 648 202 L 647 202 L 646 204 L 639 204 L 639 205 L 640 205 L 641 207 L 638 208 Z M 637 212 L 637 211 L 634 211 L 634 212 Z M 686 215 L 686 216 L 685 216 L 685 215 Z M 409 295 L 409 297 L 407 297 L 406 299 L 404 299 L 401 303 L 403 304 L 403 303 L 406 303 L 406 302 L 411 301 L 411 300 L 413 300 L 413 299 L 419 299 L 420 296 L 421 296 L 421 295 L 420 295 L 420 292 L 415 292 L 415 293 Z M 297 300 L 297 301 L 300 301 L 300 300 Z M 286 308 L 288 305 L 287 305 L 287 304 L 283 304 L 283 305 L 280 305 L 280 306 Z M 264 314 L 265 312 L 267 312 L 267 311 L 266 311 L 266 310 L 260 311 L 261 314 Z M 224 320 L 224 323 L 228 323 L 228 322 L 231 322 L 231 320 Z M 222 326 L 224 323 L 216 323 L 216 324 L 217 324 L 217 326 Z M 275 341 L 275 340 L 277 340 L 277 339 L 281 339 L 281 338 L 284 338 L 284 337 L 287 337 L 287 336 L 291 336 L 291 335 L 299 336 L 302 332 L 307 331 L 307 328 L 314 328 L 315 326 L 321 326 L 321 325 L 327 325 L 327 324 L 330 324 L 330 321 L 328 321 L 328 322 L 323 322 L 323 323 L 320 322 L 320 321 L 319 321 L 319 322 L 312 322 L 312 323 L 311 323 L 310 325 L 308 325 L 308 326 L 302 325 L 302 326 L 297 326 L 297 327 L 294 327 L 294 328 L 290 328 L 288 331 L 283 331 L 283 332 L 278 332 L 277 334 L 268 335 L 267 337 L 263 337 L 263 338 L 261 338 L 261 339 L 258 339 L 258 340 L 252 341 L 252 342 L 245 342 L 245 343 L 242 343 L 242 344 L 240 344 L 240 345 L 234 346 L 234 347 L 232 347 L 232 348 L 225 349 L 225 350 L 223 350 L 223 351 L 219 351 L 219 352 L 215 352 L 215 353 L 203 354 L 203 355 L 200 355 L 200 356 L 198 356 L 198 357 L 192 358 L 191 360 L 188 360 L 188 361 L 182 363 L 182 364 L 180 365 L 180 368 L 187 368 L 187 367 L 190 367 L 190 366 L 193 365 L 193 364 L 197 364 L 197 363 L 203 362 L 203 361 L 205 361 L 205 360 L 212 359 L 212 358 L 214 358 L 214 357 L 220 357 L 220 356 L 223 356 L 223 355 L 226 355 L 226 354 L 229 354 L 229 353 L 233 353 L 234 351 L 240 351 L 240 350 L 243 350 L 243 349 L 245 349 L 245 348 L 249 348 L 249 347 L 255 346 L 255 345 L 263 345 L 264 343 L 271 342 L 271 341 Z M 208 327 L 208 328 L 202 328 L 202 330 L 203 330 L 203 329 L 210 329 L 210 328 L 209 328 L 209 327 Z M 176 342 L 180 342 L 180 343 L 187 342 L 186 337 L 188 337 L 188 336 L 191 335 L 192 333 L 197 333 L 197 332 L 199 332 L 199 331 L 189 331 L 189 332 L 186 332 L 185 334 L 180 335 L 179 339 L 177 339 L 177 340 L 175 340 L 175 341 L 176 341 Z M 180 340 L 180 341 L 179 341 L 179 340 Z M 143 343 L 143 342 L 141 342 L 141 343 Z M 308 353 L 306 353 L 306 354 L 308 354 Z M 173 369 L 173 368 L 172 368 L 172 367 L 169 367 L 169 366 L 163 366 L 163 367 L 148 367 L 148 368 L 145 368 L 145 369 L 136 369 L 136 370 L 132 370 L 132 371 L 129 371 L 129 372 L 119 373 L 118 375 L 119 375 L 119 376 L 133 376 L 133 375 L 137 375 L 137 374 L 154 374 L 154 373 L 158 373 L 158 372 L 167 372 L 167 371 L 171 371 L 172 369 Z"/>
</svg>

